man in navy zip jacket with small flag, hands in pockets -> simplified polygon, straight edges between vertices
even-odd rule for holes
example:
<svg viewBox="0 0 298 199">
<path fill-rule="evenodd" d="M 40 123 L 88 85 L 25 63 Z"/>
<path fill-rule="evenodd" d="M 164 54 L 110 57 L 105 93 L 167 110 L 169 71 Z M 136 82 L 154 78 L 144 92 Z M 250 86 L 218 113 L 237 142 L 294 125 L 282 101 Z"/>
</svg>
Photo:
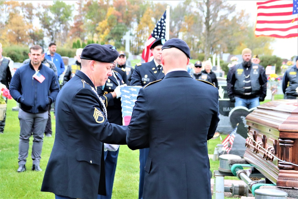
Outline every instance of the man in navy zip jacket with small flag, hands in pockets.
<svg viewBox="0 0 298 199">
<path fill-rule="evenodd" d="M 18 118 L 21 131 L 18 172 L 26 170 L 26 158 L 28 157 L 29 138 L 32 129 L 32 170 L 42 171 L 39 163 L 49 105 L 55 101 L 60 89 L 55 72 L 41 63 L 44 60 L 41 46 L 32 46 L 29 57 L 31 59 L 30 63 L 15 71 L 9 88 L 10 95 L 20 103 Z"/>
</svg>

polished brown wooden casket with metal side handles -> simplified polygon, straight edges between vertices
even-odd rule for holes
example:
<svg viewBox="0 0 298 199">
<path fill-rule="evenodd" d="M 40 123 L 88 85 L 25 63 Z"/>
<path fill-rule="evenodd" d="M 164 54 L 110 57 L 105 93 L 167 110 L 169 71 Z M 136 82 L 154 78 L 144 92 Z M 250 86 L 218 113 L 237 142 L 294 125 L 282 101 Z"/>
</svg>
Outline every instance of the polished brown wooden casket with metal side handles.
<svg viewBox="0 0 298 199">
<path fill-rule="evenodd" d="M 243 158 L 277 186 L 298 188 L 298 101 L 262 104 L 246 124 Z"/>
</svg>

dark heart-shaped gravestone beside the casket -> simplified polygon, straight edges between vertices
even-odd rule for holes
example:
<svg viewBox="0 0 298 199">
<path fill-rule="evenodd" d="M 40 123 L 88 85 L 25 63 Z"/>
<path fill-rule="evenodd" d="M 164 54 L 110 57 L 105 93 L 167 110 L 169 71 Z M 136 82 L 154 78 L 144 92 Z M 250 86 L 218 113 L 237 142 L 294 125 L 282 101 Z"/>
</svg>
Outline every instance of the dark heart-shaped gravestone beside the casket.
<svg viewBox="0 0 298 199">
<path fill-rule="evenodd" d="M 248 129 L 247 129 L 247 125 L 246 125 L 246 116 L 253 112 L 254 109 L 256 109 L 257 107 L 248 109 L 246 107 L 235 107 L 233 108 L 230 113 L 229 113 L 229 119 L 231 122 L 231 125 L 234 128 L 236 128 L 237 124 L 238 124 L 238 128 L 237 128 L 237 133 L 239 135 L 241 135 L 243 138 L 247 138 L 247 133 L 248 133 Z"/>
</svg>

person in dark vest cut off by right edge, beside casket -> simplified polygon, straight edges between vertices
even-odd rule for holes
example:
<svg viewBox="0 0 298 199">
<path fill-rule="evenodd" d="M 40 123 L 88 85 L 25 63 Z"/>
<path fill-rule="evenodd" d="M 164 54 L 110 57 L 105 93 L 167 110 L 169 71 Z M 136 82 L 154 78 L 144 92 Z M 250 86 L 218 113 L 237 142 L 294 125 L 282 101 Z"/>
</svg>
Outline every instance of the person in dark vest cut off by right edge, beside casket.
<svg viewBox="0 0 298 199">
<path fill-rule="evenodd" d="M 283 93 L 285 99 L 297 99 L 298 97 L 298 56 L 296 64 L 291 66 L 283 75 Z"/>
</svg>

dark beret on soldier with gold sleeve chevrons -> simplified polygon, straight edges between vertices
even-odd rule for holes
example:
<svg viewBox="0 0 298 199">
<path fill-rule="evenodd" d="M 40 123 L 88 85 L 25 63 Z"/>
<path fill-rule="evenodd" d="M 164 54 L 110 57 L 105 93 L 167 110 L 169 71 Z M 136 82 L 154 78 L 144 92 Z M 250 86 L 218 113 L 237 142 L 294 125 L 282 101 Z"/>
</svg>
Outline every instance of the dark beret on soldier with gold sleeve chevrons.
<svg viewBox="0 0 298 199">
<path fill-rule="evenodd" d="M 80 56 L 81 59 L 89 59 L 106 63 L 114 63 L 118 57 L 116 49 L 110 49 L 100 44 L 89 44 L 85 46 Z"/>
</svg>

